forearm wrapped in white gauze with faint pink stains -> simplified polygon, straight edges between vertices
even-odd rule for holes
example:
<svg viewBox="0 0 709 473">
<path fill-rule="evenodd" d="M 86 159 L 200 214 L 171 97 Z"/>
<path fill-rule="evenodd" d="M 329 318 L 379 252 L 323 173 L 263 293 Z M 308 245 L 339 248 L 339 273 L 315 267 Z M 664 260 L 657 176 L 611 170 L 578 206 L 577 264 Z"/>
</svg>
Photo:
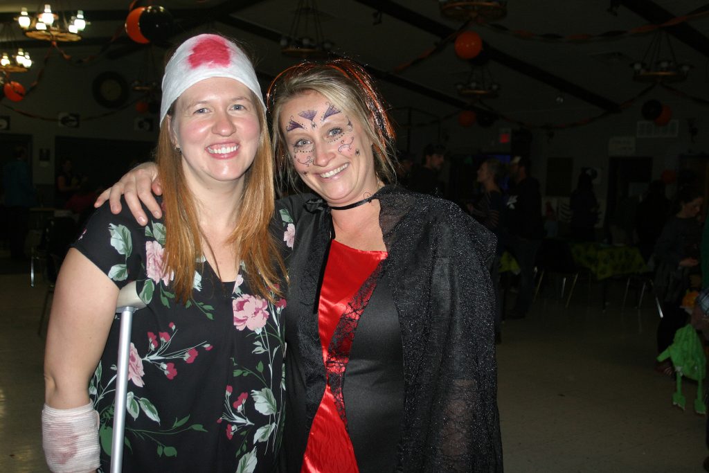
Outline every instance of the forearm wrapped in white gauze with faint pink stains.
<svg viewBox="0 0 709 473">
<path fill-rule="evenodd" d="M 42 410 L 42 447 L 54 473 L 94 471 L 99 467 L 99 413 L 93 404 Z"/>
</svg>

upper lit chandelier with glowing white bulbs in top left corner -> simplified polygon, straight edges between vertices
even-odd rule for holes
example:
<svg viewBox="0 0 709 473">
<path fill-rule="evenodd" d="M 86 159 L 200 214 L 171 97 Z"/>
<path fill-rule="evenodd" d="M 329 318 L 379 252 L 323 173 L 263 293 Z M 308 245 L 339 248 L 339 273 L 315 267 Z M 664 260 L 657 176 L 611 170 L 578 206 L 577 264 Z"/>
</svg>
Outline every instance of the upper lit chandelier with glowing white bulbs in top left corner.
<svg viewBox="0 0 709 473">
<path fill-rule="evenodd" d="M 55 4 L 56 5 L 56 4 Z M 75 15 L 69 17 L 65 11 L 55 13 L 50 4 L 44 4 L 37 9 L 38 12 L 30 16 L 27 9 L 23 8 L 17 22 L 28 38 L 45 41 L 61 41 L 65 43 L 79 41 L 82 39 L 81 33 L 86 28 L 86 18 L 84 11 L 78 10 Z"/>
</svg>

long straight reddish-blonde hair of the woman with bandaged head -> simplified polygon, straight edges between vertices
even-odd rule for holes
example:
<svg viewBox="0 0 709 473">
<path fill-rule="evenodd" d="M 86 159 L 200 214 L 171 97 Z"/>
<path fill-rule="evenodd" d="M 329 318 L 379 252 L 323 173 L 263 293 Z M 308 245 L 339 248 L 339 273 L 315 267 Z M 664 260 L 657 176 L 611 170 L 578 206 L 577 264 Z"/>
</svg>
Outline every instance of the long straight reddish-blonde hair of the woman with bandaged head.
<svg viewBox="0 0 709 473">
<path fill-rule="evenodd" d="M 239 213 L 229 243 L 236 250 L 237 263 L 244 262 L 250 289 L 264 299 L 281 296 L 276 268 L 286 274 L 276 242 L 269 233 L 274 213 L 274 164 L 266 114 L 251 92 L 261 133 L 254 162 L 244 174 Z M 174 104 L 167 115 L 174 116 Z M 194 195 L 187 187 L 182 169 L 182 155 L 170 140 L 167 121 L 160 128 L 156 159 L 163 194 L 165 238 L 164 270 L 174 272 L 175 296 L 182 303 L 189 300 L 198 258 L 204 255 L 203 233 L 199 228 Z M 216 268 L 215 268 L 216 269 Z"/>
</svg>

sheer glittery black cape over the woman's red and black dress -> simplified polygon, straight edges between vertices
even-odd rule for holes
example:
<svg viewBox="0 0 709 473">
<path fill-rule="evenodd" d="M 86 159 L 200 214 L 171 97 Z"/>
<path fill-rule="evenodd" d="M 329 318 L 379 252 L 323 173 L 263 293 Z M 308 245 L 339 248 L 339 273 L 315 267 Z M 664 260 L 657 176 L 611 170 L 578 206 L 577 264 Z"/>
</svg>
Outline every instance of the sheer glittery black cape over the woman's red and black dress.
<svg viewBox="0 0 709 473">
<path fill-rule="evenodd" d="M 403 345 L 396 471 L 502 472 L 495 298 L 488 270 L 495 237 L 450 201 L 398 187 L 384 187 L 375 198 L 389 255 L 374 277 L 389 285 L 384 293 L 393 299 Z M 281 199 L 277 206 L 287 208 L 296 225 L 294 252 L 286 259 L 291 286 L 284 311 L 289 396 L 284 466 L 300 472 L 325 389 L 317 301 L 332 211 L 313 194 Z M 367 311 L 386 310 L 385 305 L 373 298 Z M 294 383 L 305 386 L 295 389 Z"/>
</svg>

